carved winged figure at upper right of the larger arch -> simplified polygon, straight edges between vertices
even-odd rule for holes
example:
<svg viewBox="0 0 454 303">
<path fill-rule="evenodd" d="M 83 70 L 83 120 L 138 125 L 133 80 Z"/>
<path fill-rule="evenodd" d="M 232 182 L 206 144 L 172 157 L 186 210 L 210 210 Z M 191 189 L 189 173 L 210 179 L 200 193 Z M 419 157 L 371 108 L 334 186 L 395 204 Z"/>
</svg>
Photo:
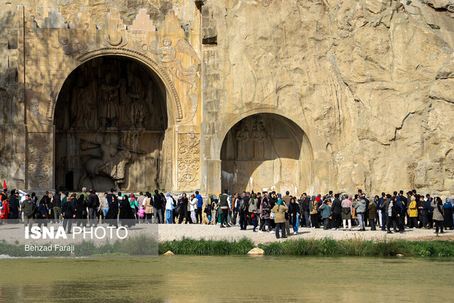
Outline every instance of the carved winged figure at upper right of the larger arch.
<svg viewBox="0 0 454 303">
<path fill-rule="evenodd" d="M 191 89 L 197 90 L 196 77 L 199 76 L 200 59 L 192 46 L 184 39 L 178 39 L 175 46 L 172 46 L 172 40 L 168 37 L 162 39 L 162 47 L 159 47 L 157 40 L 150 45 L 150 52 L 155 55 L 157 62 L 177 79 L 189 84 L 188 92 Z M 182 66 L 182 61 L 177 59 L 177 53 L 189 55 L 196 61 L 196 65 L 187 68 Z"/>
</svg>

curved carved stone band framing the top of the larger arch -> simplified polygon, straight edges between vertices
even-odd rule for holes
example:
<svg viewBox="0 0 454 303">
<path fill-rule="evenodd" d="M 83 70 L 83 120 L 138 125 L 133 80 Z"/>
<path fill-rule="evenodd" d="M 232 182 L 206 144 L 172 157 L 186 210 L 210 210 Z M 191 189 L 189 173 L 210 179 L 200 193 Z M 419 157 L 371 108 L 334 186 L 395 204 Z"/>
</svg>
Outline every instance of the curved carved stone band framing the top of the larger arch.
<svg viewBox="0 0 454 303">
<path fill-rule="evenodd" d="M 167 75 L 167 72 L 160 67 L 155 61 L 150 59 L 149 57 L 138 53 L 134 50 L 128 50 L 128 49 L 118 49 L 118 48 L 99 48 L 97 50 L 92 50 L 87 53 L 84 53 L 83 55 L 79 56 L 76 58 L 80 64 L 77 65 L 77 67 L 83 65 L 85 62 L 92 60 L 96 57 L 102 57 L 102 56 L 120 56 L 120 57 L 128 57 L 131 58 L 132 60 L 138 61 L 145 65 L 145 67 L 148 67 L 152 72 L 157 75 L 157 77 L 160 78 L 162 83 L 165 86 L 166 93 L 168 98 L 166 98 L 167 102 L 167 116 L 168 116 L 168 121 L 172 121 L 170 123 L 170 127 L 178 123 L 179 121 L 182 120 L 183 118 L 183 113 L 182 113 L 182 106 L 179 101 L 177 89 L 175 88 L 175 85 L 173 84 L 172 80 L 170 79 L 169 75 Z M 73 72 L 74 70 L 77 69 L 77 67 L 74 67 L 74 69 L 71 70 Z M 70 73 L 71 73 L 70 72 Z M 70 75 L 68 73 L 68 75 Z M 55 114 L 55 105 L 57 104 L 57 99 L 58 95 L 60 94 L 60 91 L 63 87 L 63 84 L 65 83 L 65 80 L 60 82 L 57 87 L 55 87 L 54 92 L 56 92 L 53 96 L 51 96 L 50 103 L 48 104 L 48 109 L 46 113 L 46 117 L 48 120 L 53 121 L 54 119 L 54 114 Z"/>
</svg>

